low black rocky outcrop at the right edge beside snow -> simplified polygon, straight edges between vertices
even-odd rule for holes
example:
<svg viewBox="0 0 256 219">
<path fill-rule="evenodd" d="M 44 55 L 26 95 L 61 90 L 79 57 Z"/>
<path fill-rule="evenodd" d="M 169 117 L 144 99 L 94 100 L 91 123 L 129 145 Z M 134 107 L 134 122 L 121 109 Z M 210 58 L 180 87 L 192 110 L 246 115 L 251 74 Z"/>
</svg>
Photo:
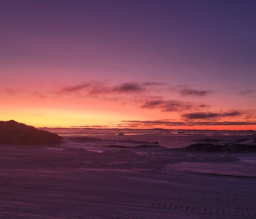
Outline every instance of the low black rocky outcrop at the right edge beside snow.
<svg viewBox="0 0 256 219">
<path fill-rule="evenodd" d="M 256 152 L 255 145 L 245 144 L 191 144 L 184 147 L 185 151 L 218 152 L 218 153 L 252 153 Z"/>
</svg>

